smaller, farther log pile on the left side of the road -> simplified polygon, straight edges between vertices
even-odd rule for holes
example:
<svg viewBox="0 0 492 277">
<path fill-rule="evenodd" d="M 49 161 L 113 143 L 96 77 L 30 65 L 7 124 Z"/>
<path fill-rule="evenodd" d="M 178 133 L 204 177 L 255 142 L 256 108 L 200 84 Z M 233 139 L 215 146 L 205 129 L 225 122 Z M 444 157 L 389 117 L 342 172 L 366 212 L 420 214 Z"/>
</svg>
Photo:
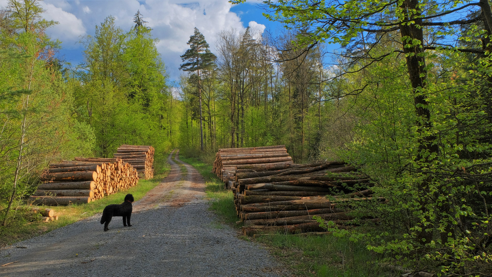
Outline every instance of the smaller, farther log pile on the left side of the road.
<svg viewBox="0 0 492 277">
<path fill-rule="evenodd" d="M 116 152 L 113 156 L 131 164 L 140 178 L 154 178 L 154 147 L 124 144 Z"/>
</svg>

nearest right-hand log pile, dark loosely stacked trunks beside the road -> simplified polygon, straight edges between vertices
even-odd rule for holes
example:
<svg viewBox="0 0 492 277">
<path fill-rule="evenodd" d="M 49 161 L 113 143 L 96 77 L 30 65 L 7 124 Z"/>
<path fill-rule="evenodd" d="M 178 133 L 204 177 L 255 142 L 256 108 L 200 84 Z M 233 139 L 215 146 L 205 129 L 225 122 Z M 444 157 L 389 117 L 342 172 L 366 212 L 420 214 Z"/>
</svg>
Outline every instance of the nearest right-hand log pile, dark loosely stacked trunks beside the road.
<svg viewBox="0 0 492 277">
<path fill-rule="evenodd" d="M 355 224 L 348 214 L 354 201 L 385 201 L 372 198 L 371 190 L 365 189 L 369 178 L 341 161 L 238 168 L 235 177 L 230 183 L 245 236 L 323 231 L 314 215 L 350 228 Z"/>
</svg>

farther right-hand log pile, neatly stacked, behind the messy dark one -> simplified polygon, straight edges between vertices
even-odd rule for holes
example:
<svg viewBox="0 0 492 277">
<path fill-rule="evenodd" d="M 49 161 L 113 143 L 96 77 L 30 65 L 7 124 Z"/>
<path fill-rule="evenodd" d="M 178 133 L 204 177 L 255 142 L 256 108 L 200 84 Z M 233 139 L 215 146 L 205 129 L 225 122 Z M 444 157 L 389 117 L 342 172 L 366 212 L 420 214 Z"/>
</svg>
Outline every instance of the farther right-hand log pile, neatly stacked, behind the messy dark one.
<svg viewBox="0 0 492 277">
<path fill-rule="evenodd" d="M 287 153 L 285 145 L 226 148 L 219 149 L 215 155 L 212 171 L 224 182 L 234 181 L 237 169 L 257 166 L 288 165 L 292 157 Z"/>
</svg>

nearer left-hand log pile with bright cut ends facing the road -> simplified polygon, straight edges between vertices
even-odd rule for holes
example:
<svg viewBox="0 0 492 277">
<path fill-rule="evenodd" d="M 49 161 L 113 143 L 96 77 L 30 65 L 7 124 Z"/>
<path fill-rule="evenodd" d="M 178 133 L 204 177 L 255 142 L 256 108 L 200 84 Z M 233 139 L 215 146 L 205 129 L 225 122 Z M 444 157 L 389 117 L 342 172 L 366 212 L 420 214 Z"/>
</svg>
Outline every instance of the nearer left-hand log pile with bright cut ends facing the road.
<svg viewBox="0 0 492 277">
<path fill-rule="evenodd" d="M 51 163 L 30 196 L 35 204 L 89 203 L 138 182 L 137 171 L 117 158 L 79 158 Z"/>
</svg>

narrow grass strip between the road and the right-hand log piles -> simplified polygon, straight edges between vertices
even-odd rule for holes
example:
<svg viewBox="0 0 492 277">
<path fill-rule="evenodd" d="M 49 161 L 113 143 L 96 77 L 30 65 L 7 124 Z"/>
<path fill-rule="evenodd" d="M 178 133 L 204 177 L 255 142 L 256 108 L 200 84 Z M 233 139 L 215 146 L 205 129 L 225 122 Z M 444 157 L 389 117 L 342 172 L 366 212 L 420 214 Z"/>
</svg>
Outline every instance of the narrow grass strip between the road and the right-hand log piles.
<svg viewBox="0 0 492 277">
<path fill-rule="evenodd" d="M 224 223 L 236 223 L 238 218 L 233 195 L 230 190 L 225 189 L 224 183 L 212 173 L 212 165 L 193 157 L 185 158 L 180 155 L 180 159 L 193 166 L 205 178 L 205 193 L 207 199 L 211 201 L 211 210 L 219 215 Z"/>
</svg>

